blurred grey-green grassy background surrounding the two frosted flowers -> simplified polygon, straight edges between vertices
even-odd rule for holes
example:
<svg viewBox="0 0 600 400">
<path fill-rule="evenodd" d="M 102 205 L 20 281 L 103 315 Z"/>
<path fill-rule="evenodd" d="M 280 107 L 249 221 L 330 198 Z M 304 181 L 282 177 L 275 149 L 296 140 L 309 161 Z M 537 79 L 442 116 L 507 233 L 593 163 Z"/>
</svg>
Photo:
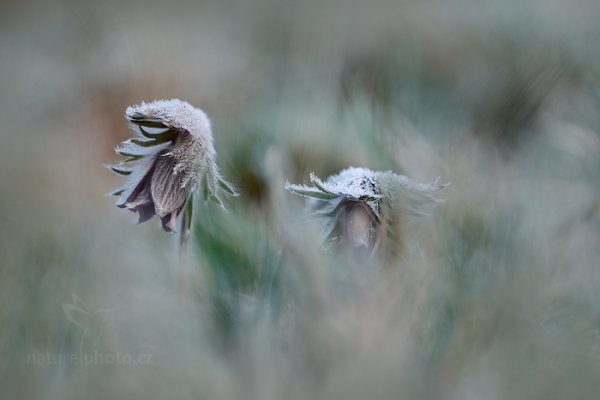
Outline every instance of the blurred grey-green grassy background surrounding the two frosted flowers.
<svg viewBox="0 0 600 400">
<path fill-rule="evenodd" d="M 5 1 L 0 397 L 597 399 L 600 4 Z M 104 194 L 126 106 L 213 122 L 241 197 L 174 239 Z M 319 251 L 347 166 L 452 182 L 392 268 Z M 362 267 L 362 268 L 361 268 Z M 63 304 L 112 309 L 82 340 Z M 86 339 L 86 338 L 84 338 Z M 33 362 L 148 354 L 144 365 Z"/>
</svg>

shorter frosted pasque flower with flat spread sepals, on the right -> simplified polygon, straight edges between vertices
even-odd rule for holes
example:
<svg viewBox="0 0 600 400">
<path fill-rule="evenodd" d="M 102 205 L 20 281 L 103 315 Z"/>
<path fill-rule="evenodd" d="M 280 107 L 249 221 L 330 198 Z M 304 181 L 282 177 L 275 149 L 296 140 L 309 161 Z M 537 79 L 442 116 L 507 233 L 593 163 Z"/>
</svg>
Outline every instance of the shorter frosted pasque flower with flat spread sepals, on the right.
<svg viewBox="0 0 600 400">
<path fill-rule="evenodd" d="M 342 248 L 374 250 L 382 233 L 394 234 L 394 211 L 426 215 L 427 205 L 440 202 L 431 193 L 448 184 L 418 183 L 391 171 L 347 168 L 325 182 L 313 173 L 314 186 L 286 182 L 292 193 L 308 197 L 312 215 L 322 218 L 322 240 Z"/>
</svg>

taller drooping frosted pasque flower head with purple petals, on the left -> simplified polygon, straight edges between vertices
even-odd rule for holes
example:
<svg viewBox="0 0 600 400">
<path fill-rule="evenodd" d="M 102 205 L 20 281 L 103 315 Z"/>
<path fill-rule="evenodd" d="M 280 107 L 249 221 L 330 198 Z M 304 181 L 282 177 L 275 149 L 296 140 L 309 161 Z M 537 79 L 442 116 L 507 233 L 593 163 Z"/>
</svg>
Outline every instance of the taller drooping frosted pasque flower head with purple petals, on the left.
<svg viewBox="0 0 600 400">
<path fill-rule="evenodd" d="M 138 213 L 138 223 L 157 215 L 165 231 L 174 231 L 199 185 L 205 200 L 221 206 L 220 191 L 237 195 L 219 174 L 210 120 L 202 110 L 178 99 L 156 100 L 128 107 L 125 118 L 137 137 L 115 149 L 126 159 L 110 168 L 128 179 L 112 194 L 119 196 L 118 207 Z"/>
</svg>

